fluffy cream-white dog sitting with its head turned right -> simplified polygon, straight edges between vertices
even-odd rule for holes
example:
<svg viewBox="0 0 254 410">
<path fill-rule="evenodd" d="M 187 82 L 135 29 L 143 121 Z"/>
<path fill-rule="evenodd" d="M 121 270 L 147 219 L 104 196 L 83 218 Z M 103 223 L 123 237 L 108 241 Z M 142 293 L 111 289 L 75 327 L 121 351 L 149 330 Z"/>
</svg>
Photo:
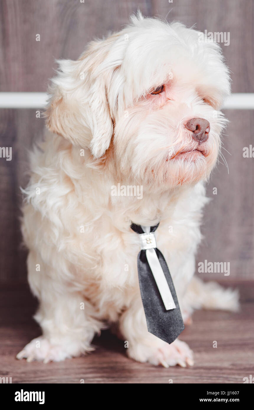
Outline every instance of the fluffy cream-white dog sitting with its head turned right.
<svg viewBox="0 0 254 410">
<path fill-rule="evenodd" d="M 156 240 L 185 323 L 194 308 L 237 309 L 236 292 L 193 278 L 204 181 L 217 162 L 226 123 L 219 110 L 230 93 L 220 47 L 199 34 L 138 13 L 77 61 L 59 61 L 49 132 L 31 154 L 23 207 L 43 335 L 19 359 L 78 356 L 113 326 L 135 360 L 193 364 L 187 344 L 147 330 L 132 222 L 160 222 Z M 133 187 L 142 195 L 131 195 Z"/>
</svg>

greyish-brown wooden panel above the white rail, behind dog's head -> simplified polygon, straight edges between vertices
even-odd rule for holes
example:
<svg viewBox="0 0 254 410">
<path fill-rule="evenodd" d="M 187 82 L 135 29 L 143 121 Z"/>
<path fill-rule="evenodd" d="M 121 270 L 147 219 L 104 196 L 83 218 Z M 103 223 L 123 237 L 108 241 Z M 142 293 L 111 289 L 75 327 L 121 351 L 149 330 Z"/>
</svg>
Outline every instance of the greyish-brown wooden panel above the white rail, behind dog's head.
<svg viewBox="0 0 254 410">
<path fill-rule="evenodd" d="M 2 0 L 0 5 L 0 91 L 46 91 L 54 59 L 77 59 L 88 41 L 120 30 L 140 7 L 144 15 L 229 32 L 230 45 L 222 48 L 233 92 L 254 92 L 252 0 Z"/>
</svg>

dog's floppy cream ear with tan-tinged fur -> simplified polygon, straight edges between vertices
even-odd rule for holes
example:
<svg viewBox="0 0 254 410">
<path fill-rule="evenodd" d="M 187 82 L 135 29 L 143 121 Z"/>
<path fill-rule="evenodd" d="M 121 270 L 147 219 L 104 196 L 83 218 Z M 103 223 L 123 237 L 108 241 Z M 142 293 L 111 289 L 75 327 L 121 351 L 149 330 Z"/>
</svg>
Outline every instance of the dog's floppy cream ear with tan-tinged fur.
<svg viewBox="0 0 254 410">
<path fill-rule="evenodd" d="M 96 158 L 105 153 L 113 133 L 107 89 L 114 67 L 105 64 L 111 42 L 93 41 L 77 61 L 58 61 L 45 113 L 51 132 L 89 147 Z"/>
</svg>

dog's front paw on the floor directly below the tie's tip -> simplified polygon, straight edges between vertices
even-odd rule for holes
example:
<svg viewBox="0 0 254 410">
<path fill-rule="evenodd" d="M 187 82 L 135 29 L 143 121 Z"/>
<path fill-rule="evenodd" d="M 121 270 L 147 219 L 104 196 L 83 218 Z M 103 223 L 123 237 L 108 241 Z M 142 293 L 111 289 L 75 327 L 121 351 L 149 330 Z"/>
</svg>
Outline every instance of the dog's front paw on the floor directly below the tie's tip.
<svg viewBox="0 0 254 410">
<path fill-rule="evenodd" d="M 162 341 L 160 341 L 162 342 Z M 136 344 L 128 348 L 128 355 L 138 362 L 149 362 L 164 367 L 187 365 L 193 366 L 193 352 L 188 344 L 176 339 L 173 343 L 159 343 L 158 346 L 147 346 L 145 344 Z"/>
</svg>

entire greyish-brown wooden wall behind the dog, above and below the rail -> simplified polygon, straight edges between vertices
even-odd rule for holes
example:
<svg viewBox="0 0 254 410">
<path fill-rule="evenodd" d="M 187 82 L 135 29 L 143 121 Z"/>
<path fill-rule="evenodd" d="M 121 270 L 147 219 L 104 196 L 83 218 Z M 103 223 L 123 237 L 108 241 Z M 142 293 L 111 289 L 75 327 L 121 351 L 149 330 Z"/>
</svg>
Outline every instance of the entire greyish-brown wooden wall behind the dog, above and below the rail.
<svg viewBox="0 0 254 410">
<path fill-rule="evenodd" d="M 230 45 L 222 48 L 232 91 L 254 92 L 252 0 L 1 0 L 0 91 L 46 91 L 54 59 L 76 59 L 87 41 L 119 30 L 137 7 L 146 16 L 196 23 L 201 31 L 229 32 Z M 36 118 L 35 111 L 0 110 L 0 146 L 12 147 L 12 160 L 0 159 L 0 282 L 26 278 L 19 187 L 27 183 L 27 151 L 43 132 L 43 119 Z M 227 110 L 225 115 L 230 124 L 224 148 L 231 155 L 225 150 L 223 154 L 229 173 L 219 164 L 208 185 L 212 201 L 204 214 L 205 239 L 197 262 L 230 262 L 230 278 L 249 280 L 254 278 L 254 158 L 243 158 L 243 147 L 252 144 L 253 111 Z M 216 277 L 229 278 L 212 275 Z"/>
</svg>

